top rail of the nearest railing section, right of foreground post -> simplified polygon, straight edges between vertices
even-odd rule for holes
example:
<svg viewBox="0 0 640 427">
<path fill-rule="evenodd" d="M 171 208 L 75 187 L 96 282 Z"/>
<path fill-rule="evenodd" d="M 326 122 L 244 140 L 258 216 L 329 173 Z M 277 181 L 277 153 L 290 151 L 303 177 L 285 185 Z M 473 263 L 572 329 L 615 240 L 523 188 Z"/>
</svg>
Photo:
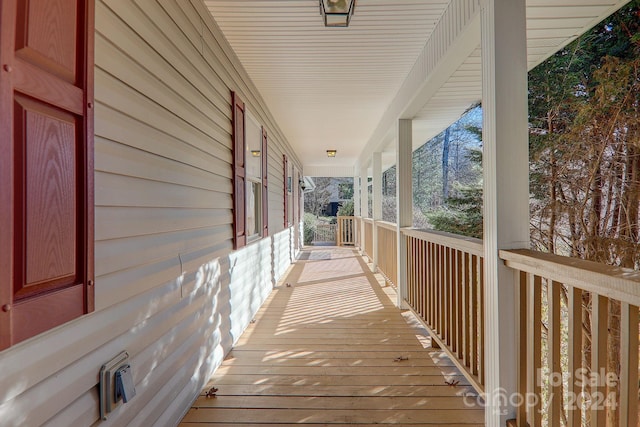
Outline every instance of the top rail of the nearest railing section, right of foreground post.
<svg viewBox="0 0 640 427">
<path fill-rule="evenodd" d="M 500 251 L 508 267 L 640 306 L 640 272 L 560 255 L 512 249 Z"/>
</svg>

